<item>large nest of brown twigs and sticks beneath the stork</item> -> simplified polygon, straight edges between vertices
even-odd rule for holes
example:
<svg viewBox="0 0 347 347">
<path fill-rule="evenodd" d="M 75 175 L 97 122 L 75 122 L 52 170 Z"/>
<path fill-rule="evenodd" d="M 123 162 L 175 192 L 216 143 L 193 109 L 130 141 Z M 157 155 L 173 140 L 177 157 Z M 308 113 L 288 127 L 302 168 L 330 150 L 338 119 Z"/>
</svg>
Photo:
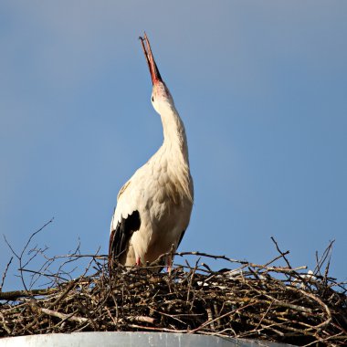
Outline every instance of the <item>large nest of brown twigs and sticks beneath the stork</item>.
<svg viewBox="0 0 347 347">
<path fill-rule="evenodd" d="M 25 289 L 0 291 L 0 337 L 165 331 L 296 345 L 347 343 L 345 283 L 328 276 L 332 243 L 315 270 L 306 271 L 292 268 L 289 252 L 280 251 L 273 241 L 279 256 L 265 265 L 185 252 L 175 254 L 178 264 L 171 273 L 153 273 L 153 266 L 131 270 L 119 266 L 110 274 L 106 256 L 79 252 L 46 258 L 46 265 L 33 271 L 23 259 L 25 252 L 15 253 Z M 42 249 L 35 254 L 42 254 Z M 69 279 L 65 267 L 86 258 L 84 273 Z M 207 264 L 214 259 L 230 267 L 212 270 Z M 52 273 L 48 268 L 58 260 L 62 263 Z M 276 266 L 279 262 L 285 265 Z M 30 273 L 31 287 L 37 279 L 46 279 L 46 287 L 29 288 L 25 272 Z"/>
</svg>

